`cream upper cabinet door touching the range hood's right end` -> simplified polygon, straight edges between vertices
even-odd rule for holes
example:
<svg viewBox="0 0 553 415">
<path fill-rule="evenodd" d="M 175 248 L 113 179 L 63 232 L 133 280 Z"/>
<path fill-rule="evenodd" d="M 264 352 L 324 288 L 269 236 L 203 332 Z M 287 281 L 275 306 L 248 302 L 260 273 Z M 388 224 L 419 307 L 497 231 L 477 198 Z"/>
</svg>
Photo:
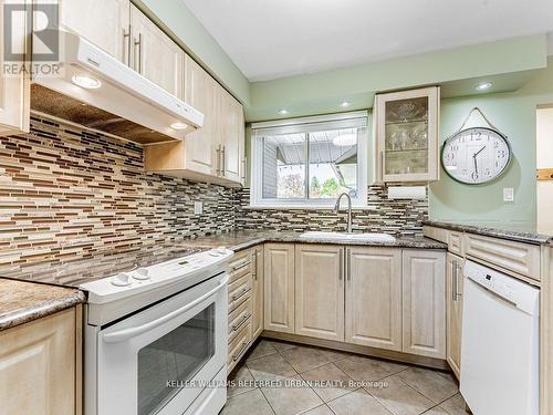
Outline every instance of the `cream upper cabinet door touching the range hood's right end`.
<svg viewBox="0 0 553 415">
<path fill-rule="evenodd" d="M 205 175 L 218 175 L 219 149 L 216 125 L 219 84 L 190 56 L 185 59 L 185 102 L 204 113 L 204 126 L 185 137 L 186 168 Z"/>
</svg>

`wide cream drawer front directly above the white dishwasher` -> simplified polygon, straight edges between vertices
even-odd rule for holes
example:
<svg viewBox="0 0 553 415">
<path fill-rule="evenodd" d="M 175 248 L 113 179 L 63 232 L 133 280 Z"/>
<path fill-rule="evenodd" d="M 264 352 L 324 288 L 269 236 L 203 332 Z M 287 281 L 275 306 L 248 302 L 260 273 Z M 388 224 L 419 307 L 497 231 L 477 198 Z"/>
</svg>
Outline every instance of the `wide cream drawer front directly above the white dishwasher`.
<svg viewBox="0 0 553 415">
<path fill-rule="evenodd" d="M 465 234 L 465 253 L 510 273 L 540 280 L 540 247 Z"/>
</svg>

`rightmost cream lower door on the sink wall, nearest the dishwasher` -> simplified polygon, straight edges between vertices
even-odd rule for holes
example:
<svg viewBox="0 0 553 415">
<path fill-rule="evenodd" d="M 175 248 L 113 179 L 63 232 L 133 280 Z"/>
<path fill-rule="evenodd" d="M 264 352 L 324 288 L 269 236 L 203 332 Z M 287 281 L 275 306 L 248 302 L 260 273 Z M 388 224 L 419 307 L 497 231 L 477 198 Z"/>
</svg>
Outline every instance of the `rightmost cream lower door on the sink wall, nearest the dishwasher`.
<svg viewBox="0 0 553 415">
<path fill-rule="evenodd" d="M 446 255 L 403 252 L 403 351 L 446 359 Z"/>
</svg>

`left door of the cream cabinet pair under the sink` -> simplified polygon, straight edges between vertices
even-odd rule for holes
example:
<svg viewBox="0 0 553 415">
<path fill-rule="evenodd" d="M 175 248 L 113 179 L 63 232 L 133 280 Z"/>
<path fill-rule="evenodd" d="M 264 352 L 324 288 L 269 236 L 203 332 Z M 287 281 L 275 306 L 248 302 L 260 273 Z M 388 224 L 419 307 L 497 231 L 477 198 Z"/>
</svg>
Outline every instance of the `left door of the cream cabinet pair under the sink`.
<svg viewBox="0 0 553 415">
<path fill-rule="evenodd" d="M 295 246 L 295 334 L 344 341 L 344 248 Z"/>
</svg>

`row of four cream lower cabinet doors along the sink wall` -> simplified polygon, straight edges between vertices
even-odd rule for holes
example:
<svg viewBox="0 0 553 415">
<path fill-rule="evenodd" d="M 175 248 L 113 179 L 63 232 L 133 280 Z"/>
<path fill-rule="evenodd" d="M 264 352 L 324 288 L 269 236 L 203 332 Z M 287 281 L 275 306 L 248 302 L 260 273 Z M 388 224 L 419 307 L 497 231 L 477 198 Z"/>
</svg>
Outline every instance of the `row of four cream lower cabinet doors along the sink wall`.
<svg viewBox="0 0 553 415">
<path fill-rule="evenodd" d="M 442 250 L 268 243 L 264 329 L 446 360 Z"/>
</svg>

